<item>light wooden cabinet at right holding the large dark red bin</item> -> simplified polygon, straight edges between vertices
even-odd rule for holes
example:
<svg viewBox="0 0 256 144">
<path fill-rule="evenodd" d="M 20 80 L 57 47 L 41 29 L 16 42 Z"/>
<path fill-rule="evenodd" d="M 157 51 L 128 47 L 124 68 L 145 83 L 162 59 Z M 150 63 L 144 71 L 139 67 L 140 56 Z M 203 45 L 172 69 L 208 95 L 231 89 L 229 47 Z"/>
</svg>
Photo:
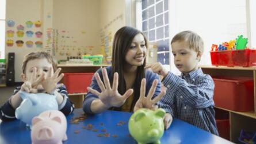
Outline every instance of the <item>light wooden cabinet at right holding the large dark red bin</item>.
<svg viewBox="0 0 256 144">
<path fill-rule="evenodd" d="M 228 111 L 230 116 L 230 141 L 239 143 L 238 138 L 240 130 L 256 131 L 256 67 L 226 67 L 226 66 L 200 66 L 205 74 L 211 76 L 234 76 L 234 77 L 250 77 L 254 79 L 254 110 L 247 112 Z M 241 95 L 242 97 L 243 95 Z"/>
</svg>

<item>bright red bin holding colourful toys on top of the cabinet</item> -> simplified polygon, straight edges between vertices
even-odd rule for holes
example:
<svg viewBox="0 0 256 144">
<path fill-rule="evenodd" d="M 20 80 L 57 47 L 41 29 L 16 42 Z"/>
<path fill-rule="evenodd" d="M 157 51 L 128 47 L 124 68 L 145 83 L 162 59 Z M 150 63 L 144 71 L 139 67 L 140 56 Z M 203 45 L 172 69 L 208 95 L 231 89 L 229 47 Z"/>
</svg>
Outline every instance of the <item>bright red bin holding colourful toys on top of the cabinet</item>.
<svg viewBox="0 0 256 144">
<path fill-rule="evenodd" d="M 211 61 L 215 66 L 256 66 L 256 50 L 211 51 Z"/>
</svg>

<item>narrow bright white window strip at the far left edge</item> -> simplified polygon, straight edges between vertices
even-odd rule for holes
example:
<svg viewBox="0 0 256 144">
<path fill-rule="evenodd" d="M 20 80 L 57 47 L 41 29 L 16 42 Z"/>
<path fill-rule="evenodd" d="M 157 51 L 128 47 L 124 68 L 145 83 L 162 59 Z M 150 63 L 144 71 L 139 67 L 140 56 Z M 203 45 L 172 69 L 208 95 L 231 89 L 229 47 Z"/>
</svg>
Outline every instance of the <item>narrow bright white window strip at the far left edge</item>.
<svg viewBox="0 0 256 144">
<path fill-rule="evenodd" d="M 5 58 L 5 7 L 6 1 L 0 1 L 0 59 Z"/>
</svg>

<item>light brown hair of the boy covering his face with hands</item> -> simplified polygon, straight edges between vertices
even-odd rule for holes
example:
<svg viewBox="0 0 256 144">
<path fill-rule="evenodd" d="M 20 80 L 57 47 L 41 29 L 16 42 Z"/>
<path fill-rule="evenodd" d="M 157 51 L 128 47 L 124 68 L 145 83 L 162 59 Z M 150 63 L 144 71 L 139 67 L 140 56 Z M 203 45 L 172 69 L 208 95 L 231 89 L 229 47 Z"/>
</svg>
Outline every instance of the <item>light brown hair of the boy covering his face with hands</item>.
<svg viewBox="0 0 256 144">
<path fill-rule="evenodd" d="M 51 54 L 45 52 L 45 51 L 36 51 L 29 53 L 24 56 L 23 64 L 22 64 L 22 73 L 25 74 L 26 70 L 26 65 L 28 64 L 28 61 L 33 60 L 33 59 L 41 59 L 41 58 L 46 58 L 49 63 L 52 64 L 52 67 L 54 68 L 54 71 L 57 69 L 57 62 L 55 59 L 52 57 Z"/>
</svg>

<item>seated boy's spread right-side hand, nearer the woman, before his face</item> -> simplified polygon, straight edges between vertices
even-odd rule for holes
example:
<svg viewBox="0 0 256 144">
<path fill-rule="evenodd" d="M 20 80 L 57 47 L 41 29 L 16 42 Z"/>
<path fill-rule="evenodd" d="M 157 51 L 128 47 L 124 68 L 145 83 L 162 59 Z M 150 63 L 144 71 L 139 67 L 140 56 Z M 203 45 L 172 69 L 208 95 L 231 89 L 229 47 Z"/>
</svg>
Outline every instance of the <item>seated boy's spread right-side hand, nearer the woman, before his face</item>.
<svg viewBox="0 0 256 144">
<path fill-rule="evenodd" d="M 64 76 L 64 74 L 60 74 L 60 70 L 62 69 L 57 69 L 55 71 L 55 73 L 52 73 L 52 67 L 49 69 L 47 78 L 44 78 L 41 83 L 42 86 L 44 87 L 44 90 L 49 93 L 52 94 L 57 88 L 63 86 L 63 83 L 59 83 L 57 84 Z M 58 76 L 59 75 L 59 76 Z"/>
</svg>

